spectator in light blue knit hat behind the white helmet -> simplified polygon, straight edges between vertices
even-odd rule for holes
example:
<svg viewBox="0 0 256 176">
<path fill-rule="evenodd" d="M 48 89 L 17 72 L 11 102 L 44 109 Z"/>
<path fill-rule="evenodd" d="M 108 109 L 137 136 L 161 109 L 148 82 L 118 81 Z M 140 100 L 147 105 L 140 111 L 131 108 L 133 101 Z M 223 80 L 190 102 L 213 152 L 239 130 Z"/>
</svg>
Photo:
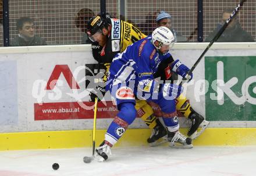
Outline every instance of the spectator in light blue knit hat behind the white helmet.
<svg viewBox="0 0 256 176">
<path fill-rule="evenodd" d="M 177 31 L 174 28 L 172 28 L 172 16 L 169 15 L 169 13 L 161 11 L 158 14 L 156 20 L 157 20 L 157 27 L 165 26 L 165 27 L 168 27 L 170 29 L 170 31 L 172 31 L 172 33 L 176 39 L 175 42 L 186 42 L 187 41 L 186 37 L 178 34 Z"/>
</svg>

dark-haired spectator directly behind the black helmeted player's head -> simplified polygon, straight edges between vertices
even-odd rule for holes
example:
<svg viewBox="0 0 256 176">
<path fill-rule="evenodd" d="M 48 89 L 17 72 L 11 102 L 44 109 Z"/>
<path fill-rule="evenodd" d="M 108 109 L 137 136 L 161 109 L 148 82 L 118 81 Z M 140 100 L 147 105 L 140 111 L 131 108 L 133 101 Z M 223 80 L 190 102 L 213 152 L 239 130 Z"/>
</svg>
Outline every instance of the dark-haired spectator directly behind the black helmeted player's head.
<svg viewBox="0 0 256 176">
<path fill-rule="evenodd" d="M 83 33 L 83 37 L 81 38 L 81 44 L 91 44 L 90 39 L 88 39 L 88 36 L 86 34 L 87 31 L 87 22 L 88 20 L 95 16 L 93 10 L 84 8 L 79 10 L 76 14 L 75 23 L 76 27 L 80 29 L 80 31 Z"/>
</svg>

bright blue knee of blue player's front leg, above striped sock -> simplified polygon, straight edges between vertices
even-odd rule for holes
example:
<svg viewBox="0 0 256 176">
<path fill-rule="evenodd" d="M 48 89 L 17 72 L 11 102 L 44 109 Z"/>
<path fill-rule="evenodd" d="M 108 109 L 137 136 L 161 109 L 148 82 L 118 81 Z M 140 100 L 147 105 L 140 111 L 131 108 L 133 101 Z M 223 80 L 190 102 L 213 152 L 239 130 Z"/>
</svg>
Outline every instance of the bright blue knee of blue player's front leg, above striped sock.
<svg viewBox="0 0 256 176">
<path fill-rule="evenodd" d="M 137 114 L 134 104 L 131 102 L 121 103 L 118 108 L 120 111 L 117 116 L 126 121 L 129 125 L 133 123 Z"/>
</svg>

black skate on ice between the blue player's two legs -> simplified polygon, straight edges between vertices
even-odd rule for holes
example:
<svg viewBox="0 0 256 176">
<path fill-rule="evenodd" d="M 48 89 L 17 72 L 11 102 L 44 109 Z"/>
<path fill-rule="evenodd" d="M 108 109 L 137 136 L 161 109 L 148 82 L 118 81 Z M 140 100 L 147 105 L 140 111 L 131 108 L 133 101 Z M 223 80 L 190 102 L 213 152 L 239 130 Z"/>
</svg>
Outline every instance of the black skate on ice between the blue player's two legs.
<svg viewBox="0 0 256 176">
<path fill-rule="evenodd" d="M 159 122 L 160 123 L 160 122 Z M 147 139 L 150 146 L 157 146 L 167 141 L 167 131 L 162 124 L 158 124 L 152 129 L 150 138 Z"/>
</svg>

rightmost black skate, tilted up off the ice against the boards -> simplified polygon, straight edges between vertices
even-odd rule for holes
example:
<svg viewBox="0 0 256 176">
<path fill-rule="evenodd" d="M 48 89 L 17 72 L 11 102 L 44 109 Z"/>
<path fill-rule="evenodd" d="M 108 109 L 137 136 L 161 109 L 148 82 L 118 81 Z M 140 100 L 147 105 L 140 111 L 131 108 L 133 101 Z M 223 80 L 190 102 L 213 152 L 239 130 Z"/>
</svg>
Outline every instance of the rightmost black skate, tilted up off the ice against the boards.
<svg viewBox="0 0 256 176">
<path fill-rule="evenodd" d="M 209 125 L 209 121 L 204 120 L 204 117 L 196 112 L 193 112 L 189 116 L 188 120 L 190 121 L 190 126 L 187 135 L 191 139 L 196 139 L 197 137 L 199 137 Z M 201 128 L 201 130 L 198 130 L 198 128 Z"/>
</svg>

